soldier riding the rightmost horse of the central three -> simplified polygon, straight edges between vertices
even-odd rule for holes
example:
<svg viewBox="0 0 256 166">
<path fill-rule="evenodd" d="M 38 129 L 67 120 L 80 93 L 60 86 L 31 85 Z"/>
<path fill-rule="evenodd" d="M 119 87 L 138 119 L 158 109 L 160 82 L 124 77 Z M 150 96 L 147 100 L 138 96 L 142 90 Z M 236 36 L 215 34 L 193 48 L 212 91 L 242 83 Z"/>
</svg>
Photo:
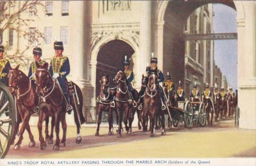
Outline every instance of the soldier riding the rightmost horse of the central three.
<svg viewBox="0 0 256 166">
<path fill-rule="evenodd" d="M 158 80 L 157 80 L 157 85 L 159 86 L 159 90 L 160 90 L 160 94 L 161 94 L 161 100 L 162 100 L 162 110 L 166 109 L 166 106 L 164 103 L 166 103 L 167 101 L 165 100 L 165 96 L 164 96 L 164 91 L 162 89 L 162 87 L 159 85 L 159 83 L 162 83 L 164 81 L 164 76 L 162 74 L 162 71 L 159 70 L 157 68 L 157 58 L 154 57 L 154 53 L 151 54 L 152 57 L 150 59 L 150 73 L 149 75 L 157 75 Z"/>
</svg>

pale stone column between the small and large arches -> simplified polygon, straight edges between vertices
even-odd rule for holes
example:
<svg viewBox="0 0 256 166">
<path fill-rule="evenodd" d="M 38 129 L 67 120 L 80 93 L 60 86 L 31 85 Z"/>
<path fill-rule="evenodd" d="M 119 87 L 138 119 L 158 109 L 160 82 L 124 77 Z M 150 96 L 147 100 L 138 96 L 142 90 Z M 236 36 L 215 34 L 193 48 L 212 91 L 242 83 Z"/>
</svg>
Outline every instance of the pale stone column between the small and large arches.
<svg viewBox="0 0 256 166">
<path fill-rule="evenodd" d="M 151 0 L 141 1 L 140 54 L 137 60 L 137 86 L 141 84 L 141 75 L 145 73 L 151 56 Z"/>
</svg>

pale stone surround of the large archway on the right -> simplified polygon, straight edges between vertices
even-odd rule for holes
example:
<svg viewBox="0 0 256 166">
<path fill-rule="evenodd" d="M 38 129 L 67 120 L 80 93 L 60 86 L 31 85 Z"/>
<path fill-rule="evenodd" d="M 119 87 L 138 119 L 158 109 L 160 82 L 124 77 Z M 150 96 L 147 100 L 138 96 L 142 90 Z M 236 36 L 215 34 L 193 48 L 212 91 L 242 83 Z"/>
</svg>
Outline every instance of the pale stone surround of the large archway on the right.
<svg viewBox="0 0 256 166">
<path fill-rule="evenodd" d="M 157 4 L 155 15 L 155 52 L 158 55 L 159 66 L 162 68 L 163 58 L 163 27 L 165 24 L 164 15 L 170 0 L 160 1 Z M 208 3 L 222 3 L 237 10 L 238 26 L 238 107 L 240 108 L 239 125 L 241 128 L 256 128 L 256 2 L 243 0 L 203 0 L 187 1 L 192 3 L 189 10 L 193 11 L 198 6 Z M 184 2 L 185 4 L 185 2 Z M 182 9 L 183 16 L 186 14 Z M 186 12 L 185 12 L 186 13 Z M 187 14 L 188 15 L 188 14 Z M 178 25 L 183 27 L 184 24 Z M 177 26 L 177 25 L 176 25 Z M 246 53 L 246 55 L 245 55 Z M 249 62 L 249 64 L 246 64 Z M 250 96 L 250 100 L 243 99 Z"/>
</svg>

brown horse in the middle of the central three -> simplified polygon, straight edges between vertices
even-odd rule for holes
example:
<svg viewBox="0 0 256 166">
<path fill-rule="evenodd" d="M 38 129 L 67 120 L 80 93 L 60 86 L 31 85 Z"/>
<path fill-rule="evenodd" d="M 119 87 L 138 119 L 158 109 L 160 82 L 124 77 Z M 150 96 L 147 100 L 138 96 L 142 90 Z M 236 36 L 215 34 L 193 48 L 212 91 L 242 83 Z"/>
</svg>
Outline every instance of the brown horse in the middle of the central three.
<svg viewBox="0 0 256 166">
<path fill-rule="evenodd" d="M 128 126 L 128 118 L 132 114 L 132 108 L 131 104 L 129 103 L 129 92 L 128 92 L 128 86 L 126 84 L 126 76 L 125 73 L 121 70 L 119 70 L 114 78 L 114 81 L 117 82 L 117 91 L 114 98 L 114 101 L 116 103 L 116 112 L 117 112 L 117 119 L 118 119 L 118 135 L 117 137 L 121 137 L 121 129 L 122 129 L 122 118 L 123 118 L 123 112 L 124 115 L 124 124 L 125 129 L 127 133 L 131 132 L 131 123 L 132 121 L 129 120 L 129 126 Z"/>
</svg>

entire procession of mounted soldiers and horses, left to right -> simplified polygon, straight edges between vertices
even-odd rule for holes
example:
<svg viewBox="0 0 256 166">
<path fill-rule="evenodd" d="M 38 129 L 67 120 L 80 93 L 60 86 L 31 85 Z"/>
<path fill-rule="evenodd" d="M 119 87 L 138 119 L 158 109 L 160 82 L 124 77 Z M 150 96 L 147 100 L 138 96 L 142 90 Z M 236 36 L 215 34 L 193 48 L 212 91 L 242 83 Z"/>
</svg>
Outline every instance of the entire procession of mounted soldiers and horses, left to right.
<svg viewBox="0 0 256 166">
<path fill-rule="evenodd" d="M 14 96 L 18 119 L 21 122 L 16 126 L 17 134 L 14 134 L 12 143 L 18 135 L 18 141 L 14 149 L 20 149 L 20 144 L 23 139 L 23 133 L 27 130 L 30 138 L 29 147 L 35 146 L 33 134 L 29 126 L 30 116 L 34 113 L 39 114 L 38 131 L 40 148 L 46 148 L 48 144 L 53 143 L 53 130 L 55 127 L 56 141 L 53 146 L 54 150 L 59 150 L 60 147 L 66 146 L 66 131 L 67 124 L 65 114 L 74 111 L 74 120 L 77 125 L 76 143 L 80 143 L 82 137 L 80 135 L 80 127 L 85 123 L 85 118 L 82 113 L 83 96 L 80 88 L 73 82 L 67 81 L 67 75 L 70 72 L 69 60 L 62 55 L 64 50 L 62 42 L 54 42 L 55 56 L 51 59 L 50 67 L 48 63 L 41 59 L 42 49 L 35 47 L 33 49 L 34 62 L 31 63 L 28 76 L 21 70 L 19 65 L 12 68 L 9 61 L 3 58 L 4 47 L 0 46 L 0 80 L 5 83 L 12 95 Z M 142 75 L 141 90 L 135 90 L 131 82 L 134 79 L 133 72 L 129 69 L 130 61 L 125 58 L 124 70 L 119 70 L 113 79 L 117 86 L 109 87 L 108 75 L 102 76 L 100 83 L 100 93 L 97 98 L 98 103 L 98 121 L 97 131 L 95 135 L 99 135 L 99 126 L 101 123 L 102 111 L 108 111 L 109 116 L 109 134 L 112 134 L 113 116 L 115 111 L 117 117 L 117 132 L 118 137 L 121 137 L 122 117 L 124 113 L 125 129 L 128 133 L 132 131 L 132 122 L 134 115 L 137 112 L 138 127 L 147 130 L 148 119 L 150 120 L 150 136 L 154 136 L 155 119 L 161 116 L 162 118 L 162 134 L 165 134 L 165 118 L 166 109 L 170 110 L 174 107 L 175 101 L 184 101 L 185 93 L 179 82 L 177 91 L 174 92 L 174 84 L 171 82 L 171 76 L 167 75 L 167 81 L 163 83 L 163 87 L 159 85 L 164 81 L 162 71 L 157 67 L 157 58 L 152 54 L 150 66 L 146 67 L 146 73 Z M 209 87 L 203 93 L 205 100 L 213 98 L 215 111 L 226 110 L 228 101 L 235 98 L 235 94 L 218 92 L 217 87 L 214 90 L 213 96 Z M 190 94 L 191 99 L 200 100 L 200 92 L 196 90 L 196 85 Z M 235 103 L 235 101 L 233 101 Z M 219 108 L 217 108 L 219 106 Z M 225 111 L 223 116 L 226 116 Z M 8 116 L 8 112 L 5 112 Z M 216 114 L 216 112 L 215 112 Z M 232 114 L 232 113 L 231 113 Z M 216 114 L 218 118 L 219 114 Z M 49 135 L 48 124 L 49 117 L 51 118 L 51 133 Z M 169 117 L 170 118 L 170 117 Z M 42 134 L 43 122 L 45 121 L 45 140 Z M 62 140 L 60 141 L 60 123 L 63 130 Z"/>
</svg>

